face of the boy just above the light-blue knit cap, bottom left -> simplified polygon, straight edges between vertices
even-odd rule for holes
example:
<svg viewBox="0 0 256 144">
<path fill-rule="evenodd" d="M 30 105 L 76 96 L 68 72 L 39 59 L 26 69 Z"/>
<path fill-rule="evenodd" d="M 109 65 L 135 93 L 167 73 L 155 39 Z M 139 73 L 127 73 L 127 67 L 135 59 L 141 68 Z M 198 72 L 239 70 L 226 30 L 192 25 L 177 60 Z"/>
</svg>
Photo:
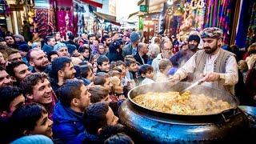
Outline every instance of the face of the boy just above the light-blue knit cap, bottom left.
<svg viewBox="0 0 256 144">
<path fill-rule="evenodd" d="M 47 113 L 42 113 L 41 118 L 38 119 L 36 126 L 34 126 L 34 130 L 30 131 L 30 134 L 42 134 L 51 138 L 53 136 L 53 131 L 51 128 L 53 123 L 54 122 L 48 118 Z"/>
</svg>

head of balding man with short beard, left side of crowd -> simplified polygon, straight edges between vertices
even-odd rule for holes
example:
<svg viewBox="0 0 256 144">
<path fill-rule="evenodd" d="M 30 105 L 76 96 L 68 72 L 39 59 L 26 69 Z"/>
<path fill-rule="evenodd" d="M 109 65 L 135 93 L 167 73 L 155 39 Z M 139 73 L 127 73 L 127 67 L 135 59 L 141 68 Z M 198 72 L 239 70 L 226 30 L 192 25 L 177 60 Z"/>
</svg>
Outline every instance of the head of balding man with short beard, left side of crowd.
<svg viewBox="0 0 256 144">
<path fill-rule="evenodd" d="M 31 49 L 26 54 L 26 59 L 30 63 L 30 66 L 33 66 L 32 73 L 43 72 L 49 65 L 46 54 L 42 50 L 37 48 Z"/>
</svg>

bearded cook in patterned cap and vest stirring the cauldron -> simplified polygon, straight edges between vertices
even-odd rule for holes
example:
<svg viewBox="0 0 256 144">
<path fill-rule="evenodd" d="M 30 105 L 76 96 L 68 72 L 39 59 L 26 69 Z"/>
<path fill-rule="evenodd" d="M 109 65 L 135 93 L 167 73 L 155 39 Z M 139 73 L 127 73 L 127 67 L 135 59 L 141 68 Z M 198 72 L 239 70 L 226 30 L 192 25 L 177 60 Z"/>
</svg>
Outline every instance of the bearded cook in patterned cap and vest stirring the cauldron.
<svg viewBox="0 0 256 144">
<path fill-rule="evenodd" d="M 234 85 L 238 82 L 238 66 L 234 54 L 221 49 L 222 35 L 223 31 L 217 27 L 202 30 L 204 50 L 198 50 L 171 79 L 181 81 L 193 74 L 194 82 L 203 78 L 203 85 L 234 94 Z"/>
</svg>

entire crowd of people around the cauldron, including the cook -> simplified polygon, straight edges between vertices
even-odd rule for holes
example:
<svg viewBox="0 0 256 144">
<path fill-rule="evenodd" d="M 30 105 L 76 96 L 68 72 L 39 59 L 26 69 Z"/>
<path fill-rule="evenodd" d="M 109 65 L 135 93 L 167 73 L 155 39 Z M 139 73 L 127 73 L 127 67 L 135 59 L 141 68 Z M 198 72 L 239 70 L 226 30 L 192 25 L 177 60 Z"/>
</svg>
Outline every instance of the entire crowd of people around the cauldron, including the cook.
<svg viewBox="0 0 256 144">
<path fill-rule="evenodd" d="M 134 143 L 118 108 L 129 90 L 153 82 L 203 78 L 256 106 L 256 43 L 223 50 L 215 27 L 185 42 L 159 35 L 145 43 L 131 30 L 38 40 L 0 38 L 1 143 Z"/>
</svg>

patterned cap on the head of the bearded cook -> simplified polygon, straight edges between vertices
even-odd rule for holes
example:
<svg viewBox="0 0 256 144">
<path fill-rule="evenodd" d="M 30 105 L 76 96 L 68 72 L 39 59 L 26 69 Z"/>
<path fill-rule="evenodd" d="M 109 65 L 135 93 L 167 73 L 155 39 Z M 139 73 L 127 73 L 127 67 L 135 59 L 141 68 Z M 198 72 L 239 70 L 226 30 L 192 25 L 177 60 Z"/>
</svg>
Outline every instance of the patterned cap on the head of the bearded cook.
<svg viewBox="0 0 256 144">
<path fill-rule="evenodd" d="M 202 30 L 201 38 L 222 38 L 223 31 L 218 27 L 207 27 Z"/>
</svg>

